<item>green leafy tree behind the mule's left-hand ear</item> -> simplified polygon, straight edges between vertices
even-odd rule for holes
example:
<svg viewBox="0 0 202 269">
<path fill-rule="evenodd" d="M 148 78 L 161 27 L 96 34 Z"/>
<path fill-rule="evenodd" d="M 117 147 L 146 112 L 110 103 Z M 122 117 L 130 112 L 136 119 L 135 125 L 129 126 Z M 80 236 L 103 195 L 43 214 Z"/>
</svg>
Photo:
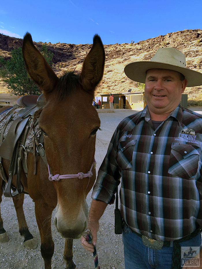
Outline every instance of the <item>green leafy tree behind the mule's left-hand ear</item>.
<svg viewBox="0 0 202 269">
<path fill-rule="evenodd" d="M 48 51 L 48 46 L 46 44 L 42 45 L 41 52 L 48 64 L 51 66 L 53 64 L 53 53 Z M 11 55 L 12 57 L 10 60 L 4 60 L 2 56 L 0 57 L 0 76 L 4 82 L 8 83 L 9 92 L 14 95 L 40 95 L 42 93 L 41 89 L 27 74 L 25 62 L 23 60 L 22 48 L 14 48 L 11 51 Z"/>
</svg>

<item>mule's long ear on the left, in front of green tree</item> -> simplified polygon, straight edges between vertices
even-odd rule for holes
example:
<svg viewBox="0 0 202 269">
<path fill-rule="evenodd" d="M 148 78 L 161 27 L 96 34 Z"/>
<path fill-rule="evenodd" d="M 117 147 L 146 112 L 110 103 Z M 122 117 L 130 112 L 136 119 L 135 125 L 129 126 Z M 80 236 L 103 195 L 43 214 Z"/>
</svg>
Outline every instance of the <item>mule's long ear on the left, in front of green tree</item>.
<svg viewBox="0 0 202 269">
<path fill-rule="evenodd" d="M 31 35 L 28 32 L 23 39 L 22 52 L 29 76 L 41 87 L 45 95 L 51 92 L 58 82 L 58 77 L 34 46 Z"/>
</svg>

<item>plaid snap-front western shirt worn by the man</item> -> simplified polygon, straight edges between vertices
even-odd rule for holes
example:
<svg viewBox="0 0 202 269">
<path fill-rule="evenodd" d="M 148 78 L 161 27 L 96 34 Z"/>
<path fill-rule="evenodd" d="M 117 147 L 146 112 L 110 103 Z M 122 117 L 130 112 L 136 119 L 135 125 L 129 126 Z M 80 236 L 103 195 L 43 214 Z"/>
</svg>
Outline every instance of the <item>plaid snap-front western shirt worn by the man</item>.
<svg viewBox="0 0 202 269">
<path fill-rule="evenodd" d="M 155 130 L 147 107 L 119 123 L 92 198 L 114 202 L 139 234 L 159 241 L 202 229 L 202 115 L 180 105 Z"/>
</svg>

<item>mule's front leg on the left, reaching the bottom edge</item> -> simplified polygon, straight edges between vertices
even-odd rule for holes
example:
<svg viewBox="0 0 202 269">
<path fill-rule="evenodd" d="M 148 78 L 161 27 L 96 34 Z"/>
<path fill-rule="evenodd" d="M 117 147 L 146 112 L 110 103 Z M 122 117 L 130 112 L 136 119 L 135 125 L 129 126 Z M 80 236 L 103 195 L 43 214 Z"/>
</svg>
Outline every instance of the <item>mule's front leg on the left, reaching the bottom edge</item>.
<svg viewBox="0 0 202 269">
<path fill-rule="evenodd" d="M 51 259 L 54 253 L 54 242 L 51 233 L 51 216 L 53 208 L 44 200 L 35 201 L 35 216 L 41 237 L 41 255 L 45 269 L 51 269 Z"/>
</svg>

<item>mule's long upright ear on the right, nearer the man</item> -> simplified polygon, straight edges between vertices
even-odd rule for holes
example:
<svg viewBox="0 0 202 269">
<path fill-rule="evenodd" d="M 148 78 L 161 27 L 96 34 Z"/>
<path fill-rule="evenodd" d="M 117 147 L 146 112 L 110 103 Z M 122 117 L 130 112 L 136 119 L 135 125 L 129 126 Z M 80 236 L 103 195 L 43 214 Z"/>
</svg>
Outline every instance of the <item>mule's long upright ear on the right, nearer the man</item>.
<svg viewBox="0 0 202 269">
<path fill-rule="evenodd" d="M 83 89 L 94 94 L 104 73 L 105 52 L 99 35 L 94 35 L 93 46 L 83 62 L 80 80 Z"/>
</svg>

